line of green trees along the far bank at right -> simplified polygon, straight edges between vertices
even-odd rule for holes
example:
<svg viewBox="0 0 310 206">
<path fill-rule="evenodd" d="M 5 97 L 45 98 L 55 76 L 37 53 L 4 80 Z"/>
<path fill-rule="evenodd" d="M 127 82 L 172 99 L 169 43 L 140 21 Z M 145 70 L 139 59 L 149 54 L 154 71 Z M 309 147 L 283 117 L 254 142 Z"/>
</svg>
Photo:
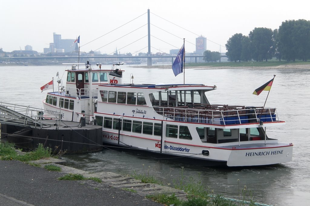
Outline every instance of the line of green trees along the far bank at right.
<svg viewBox="0 0 310 206">
<path fill-rule="evenodd" d="M 225 46 L 229 61 L 268 61 L 273 57 L 279 61 L 307 61 L 310 58 L 310 21 L 286 20 L 275 30 L 255 27 L 248 36 L 232 35 Z M 215 52 L 205 51 L 204 60 L 214 61 L 212 53 L 216 56 Z"/>
</svg>

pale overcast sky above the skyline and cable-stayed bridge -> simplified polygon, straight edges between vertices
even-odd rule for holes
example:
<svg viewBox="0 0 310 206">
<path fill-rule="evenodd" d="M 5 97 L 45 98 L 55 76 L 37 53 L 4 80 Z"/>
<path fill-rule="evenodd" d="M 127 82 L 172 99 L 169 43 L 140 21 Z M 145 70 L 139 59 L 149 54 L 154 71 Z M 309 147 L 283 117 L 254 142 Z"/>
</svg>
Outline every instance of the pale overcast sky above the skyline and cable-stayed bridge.
<svg viewBox="0 0 310 206">
<path fill-rule="evenodd" d="M 198 35 L 207 38 L 208 50 L 220 51 L 222 45 L 225 52 L 232 35 L 248 35 L 255 27 L 278 29 L 285 20 L 310 20 L 309 8 L 304 0 L 1 0 L 0 48 L 11 52 L 31 45 L 43 52 L 55 32 L 62 39 L 80 35 L 81 51 L 146 53 L 150 9 L 152 53 L 180 48 L 183 38 L 186 52 L 193 52 Z"/>
</svg>

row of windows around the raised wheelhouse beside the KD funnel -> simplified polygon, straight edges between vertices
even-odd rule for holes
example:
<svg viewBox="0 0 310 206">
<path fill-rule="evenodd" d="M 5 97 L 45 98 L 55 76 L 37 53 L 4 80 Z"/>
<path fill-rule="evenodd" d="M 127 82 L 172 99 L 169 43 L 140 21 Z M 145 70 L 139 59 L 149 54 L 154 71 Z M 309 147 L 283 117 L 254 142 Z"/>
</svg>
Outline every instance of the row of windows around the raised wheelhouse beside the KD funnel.
<svg viewBox="0 0 310 206">
<path fill-rule="evenodd" d="M 82 73 L 68 72 L 67 82 L 75 82 L 75 78 L 77 78 L 78 82 L 83 82 L 83 79 L 85 79 L 85 82 L 89 82 L 87 72 L 84 73 L 84 78 Z M 106 72 L 92 73 L 91 82 L 99 82 L 99 81 L 108 82 L 108 75 Z"/>
</svg>

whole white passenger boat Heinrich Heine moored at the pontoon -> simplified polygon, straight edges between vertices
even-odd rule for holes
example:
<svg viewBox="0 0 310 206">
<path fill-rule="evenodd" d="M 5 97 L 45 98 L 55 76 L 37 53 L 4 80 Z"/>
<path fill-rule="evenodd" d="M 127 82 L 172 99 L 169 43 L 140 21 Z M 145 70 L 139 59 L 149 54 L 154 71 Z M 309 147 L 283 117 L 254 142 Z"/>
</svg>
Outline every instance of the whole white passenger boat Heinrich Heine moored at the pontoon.
<svg viewBox="0 0 310 206">
<path fill-rule="evenodd" d="M 102 125 L 104 145 L 184 157 L 205 166 L 261 166 L 292 159 L 292 143 L 266 134 L 266 128 L 285 124 L 276 108 L 211 104 L 206 94 L 216 86 L 122 84 L 122 70 L 67 71 L 66 87 L 48 93 L 45 107 L 61 108 L 66 120 L 95 119 Z M 101 73 L 107 78 L 95 83 Z"/>
</svg>

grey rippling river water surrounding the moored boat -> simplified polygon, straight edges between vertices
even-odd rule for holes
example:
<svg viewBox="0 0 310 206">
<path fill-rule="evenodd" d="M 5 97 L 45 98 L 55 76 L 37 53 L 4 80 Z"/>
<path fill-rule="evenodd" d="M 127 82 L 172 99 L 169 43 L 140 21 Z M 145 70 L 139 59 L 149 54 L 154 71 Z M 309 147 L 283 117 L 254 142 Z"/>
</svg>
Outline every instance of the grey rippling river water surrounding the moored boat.
<svg viewBox="0 0 310 206">
<path fill-rule="evenodd" d="M 186 65 L 185 65 L 186 66 Z M 103 65 L 110 69 L 111 66 Z M 164 67 L 164 66 L 163 66 Z M 46 91 L 40 87 L 51 81 L 56 73 L 65 82 L 66 66 L 0 66 L 0 101 L 42 107 Z M 183 83 L 183 74 L 174 77 L 172 69 L 145 69 L 123 65 L 123 83 Z M 269 137 L 280 142 L 293 143 L 293 160 L 276 166 L 244 169 L 209 168 L 175 162 L 174 159 L 147 157 L 135 152 L 103 149 L 101 152 L 64 155 L 69 166 L 87 171 L 111 171 L 133 174 L 147 172 L 165 183 L 181 178 L 184 167 L 185 180 L 199 179 L 215 193 L 238 199 L 241 188 L 251 188 L 256 202 L 271 205 L 308 205 L 310 203 L 310 69 L 186 69 L 185 83 L 202 83 L 217 86 L 207 93 L 211 103 L 263 106 L 268 91 L 259 96 L 253 91 L 276 75 L 266 107 L 277 107 L 280 120 L 286 125 L 268 128 Z M 55 86 L 56 88 L 56 86 Z M 51 90 L 49 90 L 51 91 Z M 239 181 L 238 181 L 239 179 Z M 239 183 L 239 186 L 238 186 Z M 240 190 L 239 190 L 239 189 Z"/>
</svg>

